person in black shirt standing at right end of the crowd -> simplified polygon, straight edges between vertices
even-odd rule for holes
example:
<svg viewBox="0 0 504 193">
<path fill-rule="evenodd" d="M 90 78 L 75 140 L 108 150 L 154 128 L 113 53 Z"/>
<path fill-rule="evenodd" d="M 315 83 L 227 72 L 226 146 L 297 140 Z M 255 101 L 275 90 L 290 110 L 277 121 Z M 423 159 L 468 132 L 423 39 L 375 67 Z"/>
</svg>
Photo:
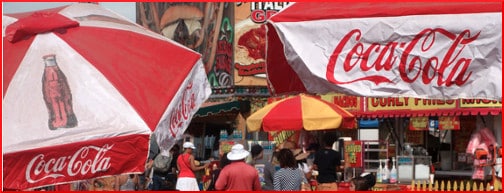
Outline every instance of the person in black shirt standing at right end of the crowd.
<svg viewBox="0 0 504 193">
<path fill-rule="evenodd" d="M 318 187 L 320 191 L 338 190 L 336 171 L 341 167 L 341 156 L 332 149 L 335 136 L 324 135 L 324 147 L 315 153 L 313 168 L 318 170 Z"/>
</svg>

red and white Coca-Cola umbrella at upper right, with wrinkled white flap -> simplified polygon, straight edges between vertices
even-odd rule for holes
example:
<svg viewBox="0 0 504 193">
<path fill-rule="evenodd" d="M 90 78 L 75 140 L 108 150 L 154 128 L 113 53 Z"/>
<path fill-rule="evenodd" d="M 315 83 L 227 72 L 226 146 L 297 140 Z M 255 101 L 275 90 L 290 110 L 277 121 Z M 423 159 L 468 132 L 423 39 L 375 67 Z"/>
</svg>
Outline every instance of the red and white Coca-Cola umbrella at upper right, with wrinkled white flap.
<svg viewBox="0 0 504 193">
<path fill-rule="evenodd" d="M 273 95 L 502 100 L 502 2 L 299 2 L 267 28 Z"/>
</svg>

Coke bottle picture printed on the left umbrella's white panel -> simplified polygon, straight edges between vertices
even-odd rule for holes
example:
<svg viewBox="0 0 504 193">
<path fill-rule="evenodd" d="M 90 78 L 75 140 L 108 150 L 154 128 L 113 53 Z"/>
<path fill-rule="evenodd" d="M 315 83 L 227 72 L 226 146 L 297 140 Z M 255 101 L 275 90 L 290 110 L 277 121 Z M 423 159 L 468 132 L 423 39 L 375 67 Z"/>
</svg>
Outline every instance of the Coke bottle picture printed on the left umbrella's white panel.
<svg viewBox="0 0 504 193">
<path fill-rule="evenodd" d="M 56 63 L 56 55 L 50 54 L 42 58 L 45 63 L 42 91 L 49 111 L 49 129 L 75 127 L 77 118 L 72 108 L 72 93 L 65 74 Z"/>
</svg>

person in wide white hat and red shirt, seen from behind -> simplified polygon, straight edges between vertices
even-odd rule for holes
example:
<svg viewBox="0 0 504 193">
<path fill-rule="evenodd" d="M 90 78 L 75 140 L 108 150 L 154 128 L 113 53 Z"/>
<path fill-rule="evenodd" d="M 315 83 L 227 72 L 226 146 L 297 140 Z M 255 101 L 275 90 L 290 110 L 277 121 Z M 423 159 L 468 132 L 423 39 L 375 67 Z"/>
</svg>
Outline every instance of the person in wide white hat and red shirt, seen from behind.
<svg viewBox="0 0 504 193">
<path fill-rule="evenodd" d="M 231 161 L 224 167 L 215 182 L 216 190 L 225 191 L 260 191 L 261 183 L 257 170 L 245 162 L 249 152 L 242 144 L 231 147 L 227 158 Z"/>
</svg>

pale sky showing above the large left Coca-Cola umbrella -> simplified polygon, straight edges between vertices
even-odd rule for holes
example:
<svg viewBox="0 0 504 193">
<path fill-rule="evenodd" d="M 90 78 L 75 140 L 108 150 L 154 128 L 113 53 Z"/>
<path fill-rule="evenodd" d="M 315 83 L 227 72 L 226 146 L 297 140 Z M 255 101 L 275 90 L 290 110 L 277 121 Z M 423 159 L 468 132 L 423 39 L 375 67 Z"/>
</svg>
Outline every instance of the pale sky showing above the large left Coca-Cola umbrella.
<svg viewBox="0 0 504 193">
<path fill-rule="evenodd" d="M 2 2 L 2 13 L 17 13 L 48 9 L 74 2 Z M 100 5 L 136 22 L 135 2 L 100 2 Z"/>
</svg>

